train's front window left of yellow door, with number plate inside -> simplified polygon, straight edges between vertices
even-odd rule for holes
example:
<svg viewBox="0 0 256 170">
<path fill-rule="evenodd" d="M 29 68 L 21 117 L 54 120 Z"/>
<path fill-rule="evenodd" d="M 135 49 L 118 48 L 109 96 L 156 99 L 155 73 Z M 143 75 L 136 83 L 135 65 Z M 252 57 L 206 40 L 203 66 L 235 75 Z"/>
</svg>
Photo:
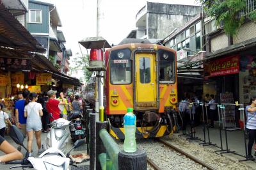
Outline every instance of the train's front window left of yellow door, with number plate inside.
<svg viewBox="0 0 256 170">
<path fill-rule="evenodd" d="M 110 54 L 110 81 L 112 84 L 131 83 L 131 50 L 113 50 Z"/>
</svg>

